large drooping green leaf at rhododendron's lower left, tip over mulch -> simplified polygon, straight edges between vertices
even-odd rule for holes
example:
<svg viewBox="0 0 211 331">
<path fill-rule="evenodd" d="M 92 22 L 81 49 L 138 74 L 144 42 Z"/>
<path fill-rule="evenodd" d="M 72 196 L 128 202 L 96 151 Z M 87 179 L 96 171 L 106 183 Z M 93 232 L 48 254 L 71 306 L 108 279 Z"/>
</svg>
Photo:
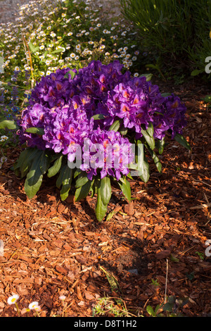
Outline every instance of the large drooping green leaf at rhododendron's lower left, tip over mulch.
<svg viewBox="0 0 211 331">
<path fill-rule="evenodd" d="M 25 180 L 25 193 L 29 199 L 34 197 L 34 195 L 39 191 L 39 187 L 41 186 L 43 174 L 41 173 L 39 166 L 40 160 L 41 156 L 39 158 L 34 158 L 30 171 L 27 173 Z"/>
</svg>

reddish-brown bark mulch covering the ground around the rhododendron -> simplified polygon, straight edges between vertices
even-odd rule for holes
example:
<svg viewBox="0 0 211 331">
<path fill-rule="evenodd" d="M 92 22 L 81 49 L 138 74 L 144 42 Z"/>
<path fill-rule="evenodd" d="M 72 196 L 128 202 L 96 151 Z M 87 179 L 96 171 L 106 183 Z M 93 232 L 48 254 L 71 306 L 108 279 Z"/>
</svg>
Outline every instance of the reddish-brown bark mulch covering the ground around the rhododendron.
<svg viewBox="0 0 211 331">
<path fill-rule="evenodd" d="M 207 94 L 204 87 L 175 91 L 188 108 L 184 136 L 192 152 L 169 141 L 160 158 L 162 174 L 152 165 L 148 183 L 131 182 L 132 204 L 114 188 L 109 211 L 116 213 L 109 221 L 96 221 L 94 198 L 74 203 L 70 194 L 60 201 L 52 181 L 27 199 L 24 181 L 10 169 L 19 151 L 8 150 L 0 170 L 1 317 L 17 316 L 7 304 L 12 294 L 20 296 L 21 316 L 38 301 L 41 316 L 90 317 L 105 296 L 121 298 L 135 316 L 148 316 L 146 306 L 161 304 L 165 290 L 189 299 L 180 309 L 183 316 L 211 313 L 211 257 L 205 256 L 211 239 L 210 109 L 200 99 Z M 112 289 L 105 270 L 119 288 Z"/>
</svg>

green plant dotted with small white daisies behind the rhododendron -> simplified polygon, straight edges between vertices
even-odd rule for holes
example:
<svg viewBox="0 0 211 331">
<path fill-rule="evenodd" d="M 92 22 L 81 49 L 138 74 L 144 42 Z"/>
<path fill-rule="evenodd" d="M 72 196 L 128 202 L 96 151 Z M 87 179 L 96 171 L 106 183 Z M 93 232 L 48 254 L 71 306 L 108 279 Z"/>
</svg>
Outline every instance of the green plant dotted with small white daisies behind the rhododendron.
<svg viewBox="0 0 211 331">
<path fill-rule="evenodd" d="M 137 44 L 130 25 L 102 20 L 89 0 L 25 4 L 20 7 L 16 24 L 0 25 L 0 56 L 4 57 L 0 93 L 4 92 L 4 106 L 11 102 L 13 86 L 18 88 L 16 106 L 21 107 L 25 91 L 57 68 L 79 69 L 91 60 L 107 64 L 117 58 L 125 70 L 132 68 L 140 58 Z"/>
</svg>

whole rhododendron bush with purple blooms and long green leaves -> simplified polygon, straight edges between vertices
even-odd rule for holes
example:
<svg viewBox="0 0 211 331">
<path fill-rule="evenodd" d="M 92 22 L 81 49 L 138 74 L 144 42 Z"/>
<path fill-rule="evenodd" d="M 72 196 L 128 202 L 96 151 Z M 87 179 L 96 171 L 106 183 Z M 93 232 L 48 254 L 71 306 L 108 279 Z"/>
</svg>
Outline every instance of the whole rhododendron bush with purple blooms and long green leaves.
<svg viewBox="0 0 211 331">
<path fill-rule="evenodd" d="M 71 187 L 76 201 L 97 194 L 96 218 L 101 221 L 112 182 L 130 201 L 128 178 L 148 181 L 148 156 L 161 172 L 157 154 L 162 154 L 167 132 L 190 149 L 182 136 L 185 113 L 179 97 L 161 94 L 145 75 L 122 73 L 118 61 L 91 61 L 78 71 L 58 69 L 32 90 L 18 124 L 23 151 L 13 169 L 25 177 L 30 199 L 45 174 L 57 176 L 62 200 Z"/>
</svg>

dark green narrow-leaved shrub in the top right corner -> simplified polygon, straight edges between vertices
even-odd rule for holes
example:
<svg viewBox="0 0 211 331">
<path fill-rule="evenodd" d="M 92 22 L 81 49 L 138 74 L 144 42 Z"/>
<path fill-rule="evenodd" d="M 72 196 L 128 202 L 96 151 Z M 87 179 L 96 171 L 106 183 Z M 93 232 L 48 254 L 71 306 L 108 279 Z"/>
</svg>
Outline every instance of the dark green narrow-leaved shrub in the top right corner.
<svg viewBox="0 0 211 331">
<path fill-rule="evenodd" d="M 205 73 L 211 49 L 210 0 L 120 0 L 120 4 L 148 55 L 161 56 L 162 64 L 169 67 L 182 61 L 190 73 L 197 70 L 192 75 Z"/>
</svg>

